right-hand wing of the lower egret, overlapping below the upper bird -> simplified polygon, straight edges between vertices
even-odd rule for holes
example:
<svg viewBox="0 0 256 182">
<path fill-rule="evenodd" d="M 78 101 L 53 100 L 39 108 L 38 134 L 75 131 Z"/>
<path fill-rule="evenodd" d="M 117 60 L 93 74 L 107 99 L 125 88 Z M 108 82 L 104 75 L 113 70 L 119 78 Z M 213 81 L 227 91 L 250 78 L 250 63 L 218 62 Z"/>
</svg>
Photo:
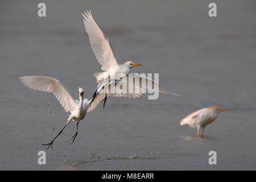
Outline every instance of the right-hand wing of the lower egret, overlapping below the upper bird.
<svg viewBox="0 0 256 182">
<path fill-rule="evenodd" d="M 133 90 L 132 93 L 129 92 L 122 92 L 122 90 L 118 90 L 115 93 L 111 93 L 110 91 L 110 86 L 118 86 L 118 84 L 121 84 L 122 86 L 125 86 L 127 90 Z M 98 104 L 100 104 L 101 101 L 105 99 L 105 97 L 132 97 L 132 98 L 138 98 L 141 97 L 143 93 L 143 89 L 140 88 L 139 86 L 135 86 L 133 84 L 130 84 L 128 82 L 125 82 L 123 80 L 119 81 L 111 81 L 110 83 L 104 83 L 104 84 L 99 84 L 100 88 L 96 90 L 96 92 L 93 94 L 92 98 L 90 99 L 90 104 L 87 109 L 87 113 L 89 111 L 92 111 L 97 107 Z M 118 86 L 119 88 L 119 86 Z M 126 91 L 127 91 L 126 90 Z"/>
</svg>

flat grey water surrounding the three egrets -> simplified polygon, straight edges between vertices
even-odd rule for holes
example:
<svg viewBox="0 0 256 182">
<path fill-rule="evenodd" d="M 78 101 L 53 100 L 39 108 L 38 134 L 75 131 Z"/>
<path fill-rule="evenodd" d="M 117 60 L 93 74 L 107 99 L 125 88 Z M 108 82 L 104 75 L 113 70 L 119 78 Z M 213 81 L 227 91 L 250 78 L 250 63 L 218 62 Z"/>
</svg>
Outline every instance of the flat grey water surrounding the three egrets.
<svg viewBox="0 0 256 182">
<path fill-rule="evenodd" d="M 37 15 L 45 2 L 47 17 Z M 255 170 L 255 1 L 1 1 L 0 169 Z M 28 89 L 18 78 L 59 79 L 73 97 L 96 89 L 100 71 L 81 13 L 92 10 L 119 63 L 143 64 L 138 73 L 159 73 L 159 82 L 182 96 L 158 100 L 109 98 L 53 144 L 68 114 L 52 94 Z M 205 129 L 179 126 L 202 107 L 228 109 Z M 54 130 L 53 130 L 54 129 Z M 38 151 L 47 165 L 38 165 Z M 217 165 L 208 152 L 217 152 Z M 135 156 L 135 159 L 128 159 Z"/>
</svg>

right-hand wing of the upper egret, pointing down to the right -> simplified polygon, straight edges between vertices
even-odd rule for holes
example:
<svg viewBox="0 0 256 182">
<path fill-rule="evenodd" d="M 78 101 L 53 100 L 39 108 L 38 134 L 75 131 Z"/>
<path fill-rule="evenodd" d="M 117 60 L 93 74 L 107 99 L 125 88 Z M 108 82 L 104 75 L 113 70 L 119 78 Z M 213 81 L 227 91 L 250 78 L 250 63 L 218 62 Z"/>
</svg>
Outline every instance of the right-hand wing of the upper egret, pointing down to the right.
<svg viewBox="0 0 256 182">
<path fill-rule="evenodd" d="M 167 89 L 160 86 L 157 82 L 152 81 L 151 78 L 148 78 L 146 76 L 139 75 L 138 73 L 129 73 L 128 76 L 135 77 L 135 79 L 139 78 L 141 80 L 140 86 L 143 89 L 148 89 L 151 91 L 159 91 L 160 93 L 174 94 L 176 96 L 180 96 L 180 94 L 176 94 L 176 93 L 172 93 L 172 92 L 168 91 Z"/>
</svg>

